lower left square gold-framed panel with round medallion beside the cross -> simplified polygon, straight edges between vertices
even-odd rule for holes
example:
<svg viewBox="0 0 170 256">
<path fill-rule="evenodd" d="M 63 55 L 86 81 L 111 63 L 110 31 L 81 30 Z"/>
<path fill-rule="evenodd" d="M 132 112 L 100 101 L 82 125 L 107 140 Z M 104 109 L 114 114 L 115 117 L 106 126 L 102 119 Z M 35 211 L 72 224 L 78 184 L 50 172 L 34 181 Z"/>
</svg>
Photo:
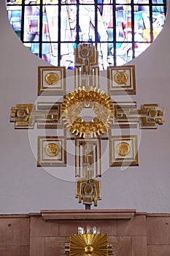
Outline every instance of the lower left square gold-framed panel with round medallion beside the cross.
<svg viewBox="0 0 170 256">
<path fill-rule="evenodd" d="M 66 167 L 66 140 L 64 137 L 38 137 L 37 166 Z"/>
</svg>

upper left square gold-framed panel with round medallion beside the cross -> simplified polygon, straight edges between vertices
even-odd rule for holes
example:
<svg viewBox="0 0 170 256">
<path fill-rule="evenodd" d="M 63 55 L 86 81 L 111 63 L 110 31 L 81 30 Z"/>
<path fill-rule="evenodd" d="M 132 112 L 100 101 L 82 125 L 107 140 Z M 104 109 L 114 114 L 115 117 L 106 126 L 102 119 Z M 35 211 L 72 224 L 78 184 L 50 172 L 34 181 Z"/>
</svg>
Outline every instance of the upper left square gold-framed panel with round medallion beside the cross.
<svg viewBox="0 0 170 256">
<path fill-rule="evenodd" d="M 66 92 L 66 67 L 38 67 L 38 95 L 63 95 Z"/>
</svg>

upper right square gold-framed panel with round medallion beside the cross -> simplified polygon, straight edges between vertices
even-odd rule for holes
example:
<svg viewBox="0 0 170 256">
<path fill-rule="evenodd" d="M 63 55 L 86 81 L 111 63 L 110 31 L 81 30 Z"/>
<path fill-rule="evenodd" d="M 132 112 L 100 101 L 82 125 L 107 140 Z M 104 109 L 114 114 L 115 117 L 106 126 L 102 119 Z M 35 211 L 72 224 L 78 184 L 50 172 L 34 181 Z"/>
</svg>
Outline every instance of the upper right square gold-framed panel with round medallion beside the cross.
<svg viewBox="0 0 170 256">
<path fill-rule="evenodd" d="M 107 68 L 108 94 L 136 94 L 135 66 Z"/>
</svg>

